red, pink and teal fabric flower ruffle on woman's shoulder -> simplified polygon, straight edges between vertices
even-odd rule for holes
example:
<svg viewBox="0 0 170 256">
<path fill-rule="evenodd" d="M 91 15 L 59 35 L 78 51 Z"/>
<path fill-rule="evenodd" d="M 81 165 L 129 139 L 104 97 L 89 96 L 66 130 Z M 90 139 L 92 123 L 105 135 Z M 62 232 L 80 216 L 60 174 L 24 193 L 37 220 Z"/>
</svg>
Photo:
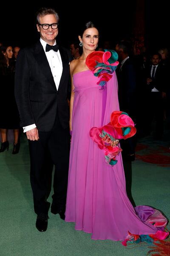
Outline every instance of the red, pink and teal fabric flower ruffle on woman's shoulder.
<svg viewBox="0 0 170 256">
<path fill-rule="evenodd" d="M 119 64 L 118 54 L 113 50 L 104 50 L 105 52 L 91 52 L 85 61 L 85 64 L 94 73 L 94 76 L 100 77 L 97 82 L 101 89 L 105 87 L 105 83 L 111 79 L 114 70 Z"/>
</svg>

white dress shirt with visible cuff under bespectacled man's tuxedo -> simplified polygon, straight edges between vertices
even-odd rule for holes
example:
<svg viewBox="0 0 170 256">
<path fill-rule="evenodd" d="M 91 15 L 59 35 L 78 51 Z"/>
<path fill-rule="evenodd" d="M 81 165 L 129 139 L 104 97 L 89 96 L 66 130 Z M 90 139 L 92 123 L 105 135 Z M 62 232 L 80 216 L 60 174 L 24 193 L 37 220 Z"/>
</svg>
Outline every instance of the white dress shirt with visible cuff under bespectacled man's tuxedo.
<svg viewBox="0 0 170 256">
<path fill-rule="evenodd" d="M 40 42 L 42 44 L 42 47 L 45 51 L 45 47 L 46 47 L 46 42 L 44 40 L 42 40 L 42 38 L 40 38 Z M 53 45 L 56 45 L 56 41 Z M 61 55 L 59 53 L 59 50 L 57 52 L 50 50 L 48 52 L 45 52 L 45 55 L 47 57 L 49 66 L 51 68 L 51 73 L 53 75 L 54 78 L 54 82 L 56 85 L 56 89 L 58 90 L 59 87 L 59 82 L 62 76 L 62 60 L 61 60 Z M 23 127 L 24 132 L 29 131 L 33 128 L 36 128 L 35 124 L 32 125 L 28 125 Z"/>
</svg>

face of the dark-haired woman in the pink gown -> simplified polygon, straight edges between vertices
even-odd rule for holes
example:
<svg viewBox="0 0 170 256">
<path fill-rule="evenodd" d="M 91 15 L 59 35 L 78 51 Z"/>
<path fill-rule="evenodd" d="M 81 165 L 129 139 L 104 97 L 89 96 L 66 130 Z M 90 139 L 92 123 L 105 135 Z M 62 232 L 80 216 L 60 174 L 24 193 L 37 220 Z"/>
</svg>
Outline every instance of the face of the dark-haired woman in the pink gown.
<svg viewBox="0 0 170 256">
<path fill-rule="evenodd" d="M 85 49 L 94 51 L 99 41 L 99 32 L 96 28 L 86 29 L 82 38 L 79 37 L 79 40 Z"/>
</svg>

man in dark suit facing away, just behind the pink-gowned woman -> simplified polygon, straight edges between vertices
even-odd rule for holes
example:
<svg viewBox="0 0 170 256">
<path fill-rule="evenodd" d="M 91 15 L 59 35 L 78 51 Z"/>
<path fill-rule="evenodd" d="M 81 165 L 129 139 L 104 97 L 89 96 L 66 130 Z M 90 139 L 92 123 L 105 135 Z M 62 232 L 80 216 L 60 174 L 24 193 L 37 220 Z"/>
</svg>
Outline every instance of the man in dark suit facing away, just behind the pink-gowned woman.
<svg viewBox="0 0 170 256">
<path fill-rule="evenodd" d="M 129 57 L 130 45 L 120 41 L 116 45 L 119 67 L 116 69 L 120 111 L 126 112 L 136 123 L 136 71 Z M 135 160 L 136 136 L 120 141 L 124 160 Z"/>
</svg>

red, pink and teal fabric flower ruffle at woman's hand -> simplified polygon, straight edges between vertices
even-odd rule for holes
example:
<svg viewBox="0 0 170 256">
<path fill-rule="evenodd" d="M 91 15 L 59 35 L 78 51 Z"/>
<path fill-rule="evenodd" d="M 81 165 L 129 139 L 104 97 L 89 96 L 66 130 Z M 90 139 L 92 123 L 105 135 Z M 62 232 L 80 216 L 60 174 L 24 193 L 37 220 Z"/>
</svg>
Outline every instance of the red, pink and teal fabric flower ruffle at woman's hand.
<svg viewBox="0 0 170 256">
<path fill-rule="evenodd" d="M 127 113 L 122 111 L 113 111 L 111 113 L 111 122 L 102 127 L 93 127 L 90 130 L 90 136 L 100 149 L 105 150 L 105 160 L 110 165 L 117 163 L 116 155 L 122 151 L 118 146 L 111 146 L 116 139 L 127 139 L 136 133 L 134 122 Z M 106 136 L 107 135 L 107 136 Z M 106 137 L 105 140 L 103 138 Z"/>
</svg>

